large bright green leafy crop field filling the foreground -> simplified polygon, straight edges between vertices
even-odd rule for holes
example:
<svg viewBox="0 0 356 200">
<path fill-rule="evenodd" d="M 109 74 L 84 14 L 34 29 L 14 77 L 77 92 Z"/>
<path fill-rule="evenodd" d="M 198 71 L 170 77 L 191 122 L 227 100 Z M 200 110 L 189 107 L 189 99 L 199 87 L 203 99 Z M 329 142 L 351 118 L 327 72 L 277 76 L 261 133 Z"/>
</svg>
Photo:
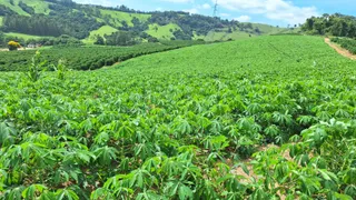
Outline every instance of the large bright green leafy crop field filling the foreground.
<svg viewBox="0 0 356 200">
<path fill-rule="evenodd" d="M 355 68 L 274 36 L 1 72 L 0 199 L 355 199 Z"/>
</svg>

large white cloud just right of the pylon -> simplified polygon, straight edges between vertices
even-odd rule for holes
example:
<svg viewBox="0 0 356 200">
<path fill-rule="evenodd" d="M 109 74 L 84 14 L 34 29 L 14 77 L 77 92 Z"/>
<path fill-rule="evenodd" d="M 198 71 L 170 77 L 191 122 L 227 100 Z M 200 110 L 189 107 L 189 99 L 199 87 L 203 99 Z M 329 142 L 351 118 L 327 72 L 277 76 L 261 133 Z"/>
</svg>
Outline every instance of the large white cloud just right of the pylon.
<svg viewBox="0 0 356 200">
<path fill-rule="evenodd" d="M 303 23 L 312 16 L 319 16 L 315 7 L 297 7 L 285 0 L 219 0 L 219 6 L 231 11 L 264 14 L 268 19 L 293 24 Z"/>
</svg>

